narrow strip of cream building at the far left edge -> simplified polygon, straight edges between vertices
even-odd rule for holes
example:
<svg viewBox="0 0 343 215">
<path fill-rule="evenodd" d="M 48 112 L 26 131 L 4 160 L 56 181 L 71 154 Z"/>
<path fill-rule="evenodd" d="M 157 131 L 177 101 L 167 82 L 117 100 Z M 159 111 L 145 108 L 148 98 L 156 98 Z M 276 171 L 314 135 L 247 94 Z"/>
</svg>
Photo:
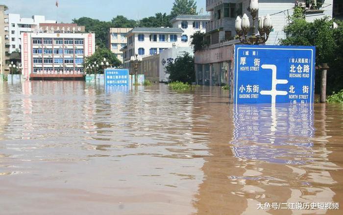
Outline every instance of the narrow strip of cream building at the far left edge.
<svg viewBox="0 0 343 215">
<path fill-rule="evenodd" d="M 9 28 L 8 15 L 5 14 L 6 9 L 5 5 L 0 5 L 0 75 L 9 73 L 9 67 L 6 64 L 6 60 L 9 59 Z"/>
</svg>

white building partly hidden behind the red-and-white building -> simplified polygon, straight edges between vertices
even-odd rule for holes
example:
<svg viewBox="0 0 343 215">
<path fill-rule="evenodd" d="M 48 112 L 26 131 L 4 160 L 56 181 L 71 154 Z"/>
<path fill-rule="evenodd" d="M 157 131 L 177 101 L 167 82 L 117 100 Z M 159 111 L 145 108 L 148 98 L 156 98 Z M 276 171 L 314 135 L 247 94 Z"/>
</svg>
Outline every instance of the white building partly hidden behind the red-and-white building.
<svg viewBox="0 0 343 215">
<path fill-rule="evenodd" d="M 40 23 L 56 23 L 55 20 L 46 20 L 45 16 L 32 16 L 32 18 L 20 18 L 20 14 L 8 14 L 9 23 L 9 52 L 17 49 L 21 51 L 21 34 L 23 32 L 32 32 Z"/>
</svg>

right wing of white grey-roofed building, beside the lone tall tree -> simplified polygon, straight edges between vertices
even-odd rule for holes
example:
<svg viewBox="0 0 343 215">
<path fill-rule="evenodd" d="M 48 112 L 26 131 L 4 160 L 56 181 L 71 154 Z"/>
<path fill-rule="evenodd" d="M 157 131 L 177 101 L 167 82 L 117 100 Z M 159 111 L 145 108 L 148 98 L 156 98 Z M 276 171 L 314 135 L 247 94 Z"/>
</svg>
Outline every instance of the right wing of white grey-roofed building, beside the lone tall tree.
<svg viewBox="0 0 343 215">
<path fill-rule="evenodd" d="M 183 34 L 182 40 L 188 40 L 188 46 L 191 47 L 191 36 L 200 31 L 206 33 L 206 24 L 211 20 L 209 15 L 179 15 L 171 20 L 172 27 L 181 28 Z M 186 44 L 182 44 L 185 47 Z"/>
</svg>

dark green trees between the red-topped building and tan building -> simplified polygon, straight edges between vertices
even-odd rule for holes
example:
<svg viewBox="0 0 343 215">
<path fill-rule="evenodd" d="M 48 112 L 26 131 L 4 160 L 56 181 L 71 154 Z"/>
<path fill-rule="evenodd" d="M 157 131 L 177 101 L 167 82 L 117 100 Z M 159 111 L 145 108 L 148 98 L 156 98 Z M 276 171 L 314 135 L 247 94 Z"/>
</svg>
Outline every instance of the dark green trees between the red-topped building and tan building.
<svg viewBox="0 0 343 215">
<path fill-rule="evenodd" d="M 73 23 L 76 23 L 78 26 L 85 26 L 86 32 L 95 32 L 95 40 L 98 48 L 105 48 L 108 44 L 109 28 L 113 27 L 111 22 L 81 17 L 79 19 L 73 19 Z"/>
</svg>

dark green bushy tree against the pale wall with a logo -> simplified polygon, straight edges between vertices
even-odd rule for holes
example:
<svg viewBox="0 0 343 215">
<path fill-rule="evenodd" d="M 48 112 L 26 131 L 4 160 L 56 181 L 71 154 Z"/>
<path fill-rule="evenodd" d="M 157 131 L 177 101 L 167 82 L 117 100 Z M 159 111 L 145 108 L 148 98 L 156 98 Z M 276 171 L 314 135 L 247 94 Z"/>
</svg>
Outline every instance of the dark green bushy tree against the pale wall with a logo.
<svg viewBox="0 0 343 215">
<path fill-rule="evenodd" d="M 175 59 L 174 63 L 166 67 L 169 76 L 169 81 L 181 81 L 184 83 L 192 83 L 196 79 L 196 72 L 194 69 L 194 57 L 186 53 Z"/>
</svg>

